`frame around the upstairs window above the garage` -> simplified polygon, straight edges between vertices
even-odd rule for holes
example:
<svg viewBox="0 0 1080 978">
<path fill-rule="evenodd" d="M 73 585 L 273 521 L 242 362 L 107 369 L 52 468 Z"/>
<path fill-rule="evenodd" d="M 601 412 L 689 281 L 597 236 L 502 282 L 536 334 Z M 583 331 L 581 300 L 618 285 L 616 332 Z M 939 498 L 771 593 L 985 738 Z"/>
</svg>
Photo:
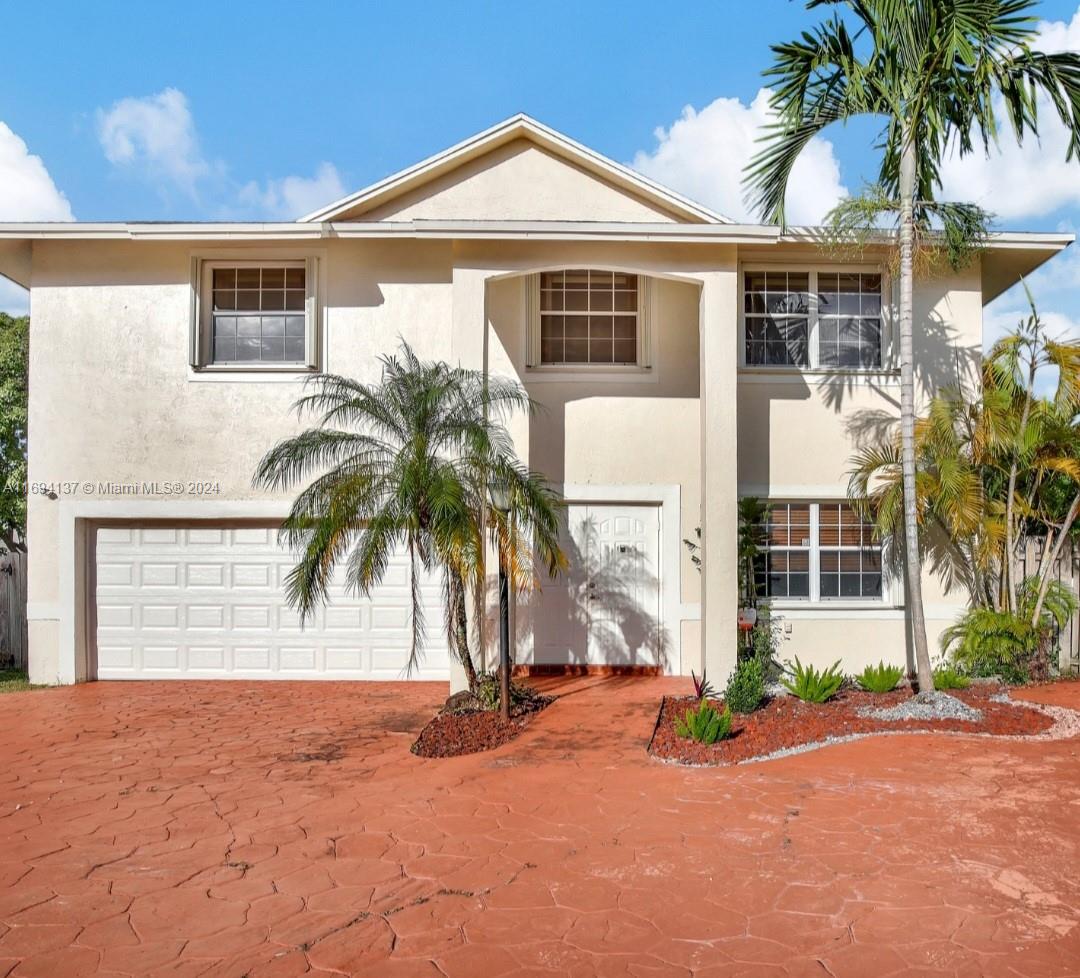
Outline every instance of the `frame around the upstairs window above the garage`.
<svg viewBox="0 0 1080 978">
<path fill-rule="evenodd" d="M 305 356 L 302 361 L 214 361 L 214 302 L 213 275 L 215 269 L 240 268 L 302 268 L 305 270 Z M 321 310 L 319 303 L 320 260 L 307 255 L 260 255 L 230 258 L 228 256 L 197 256 L 192 258 L 192 315 L 190 366 L 198 373 L 313 373 L 320 369 Z"/>
</svg>

